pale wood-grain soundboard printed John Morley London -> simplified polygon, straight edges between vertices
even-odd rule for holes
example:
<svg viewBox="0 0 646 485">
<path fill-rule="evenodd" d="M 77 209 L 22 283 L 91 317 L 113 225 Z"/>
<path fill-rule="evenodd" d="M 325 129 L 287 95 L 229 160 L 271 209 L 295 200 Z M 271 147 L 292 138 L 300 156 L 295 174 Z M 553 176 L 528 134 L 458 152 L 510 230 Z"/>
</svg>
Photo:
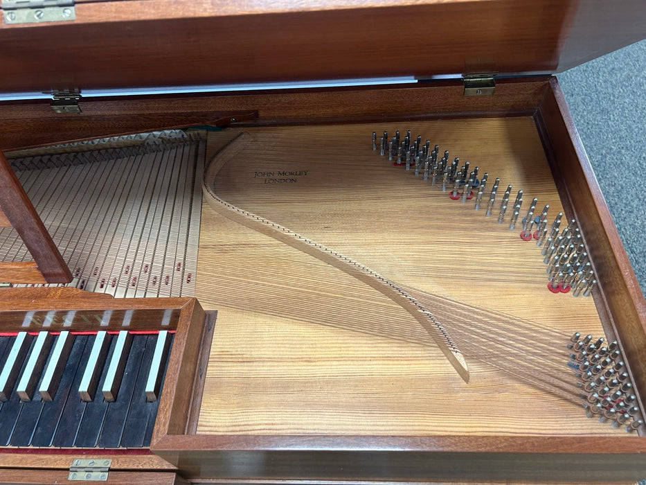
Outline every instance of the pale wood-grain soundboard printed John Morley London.
<svg viewBox="0 0 646 485">
<path fill-rule="evenodd" d="M 562 210 L 530 117 L 253 129 L 222 168 L 217 193 L 392 281 L 532 321 L 541 343 L 558 333 L 564 340 L 549 342 L 548 360 L 563 359 L 575 330 L 602 335 L 593 299 L 548 292 L 539 248 L 519 229 L 371 150 L 371 132 L 395 129 L 428 137 L 490 182 L 512 184 L 514 195 L 522 189 L 525 209 L 538 197 L 552 218 Z M 237 133 L 214 134 L 211 150 Z M 271 182 L 281 178 L 293 181 Z M 505 356 L 487 349 L 468 362 L 471 382 L 461 382 L 423 328 L 382 294 L 203 210 L 197 297 L 219 313 L 199 434 L 626 434 L 495 370 L 487 360 Z M 468 345 L 468 325 L 444 323 Z"/>
</svg>

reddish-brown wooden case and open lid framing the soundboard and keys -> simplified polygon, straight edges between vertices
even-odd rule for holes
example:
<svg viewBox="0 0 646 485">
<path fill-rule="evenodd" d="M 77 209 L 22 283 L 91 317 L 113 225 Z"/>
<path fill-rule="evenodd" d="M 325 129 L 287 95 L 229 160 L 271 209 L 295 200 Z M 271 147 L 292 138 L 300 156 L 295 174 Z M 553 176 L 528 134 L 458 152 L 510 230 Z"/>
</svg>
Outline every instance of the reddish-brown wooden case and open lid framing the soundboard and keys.
<svg viewBox="0 0 646 485">
<path fill-rule="evenodd" d="M 204 124 L 244 129 L 530 116 L 568 218 L 577 220 L 589 247 L 604 329 L 620 342 L 644 409 L 646 303 L 558 82 L 548 73 L 645 36 L 646 4 L 640 0 L 79 1 L 75 20 L 0 26 L 5 47 L 0 92 L 80 89 L 81 95 L 80 113 L 56 113 L 49 100 L 2 102 L 0 148 Z M 462 79 L 438 77 L 452 73 L 500 76 L 493 95 L 465 96 Z M 411 76 L 418 82 L 116 94 L 131 87 L 190 91 L 199 85 L 389 76 Z M 92 89 L 115 91 L 109 97 L 86 95 Z M 607 483 L 646 477 L 646 441 L 636 434 L 603 440 L 522 433 L 195 434 L 195 396 L 201 389 L 195 376 L 210 348 L 203 342 L 206 326 L 198 303 L 42 291 L 24 297 L 19 290 L 0 290 L 0 308 L 181 311 L 177 335 L 185 333 L 186 345 L 172 349 L 152 454 L 114 454 L 111 470 L 124 471 L 111 471 L 109 483 L 162 483 L 161 477 L 167 480 L 163 483 Z M 2 330 L 12 330 L 7 319 L 0 315 Z M 200 354 L 199 349 L 206 351 Z M 64 483 L 66 462 L 75 456 L 67 453 L 56 457 L 53 451 L 41 456 L 31 450 L 0 450 L 0 480 Z M 96 455 L 84 450 L 86 454 L 111 455 L 109 450 Z"/>
</svg>

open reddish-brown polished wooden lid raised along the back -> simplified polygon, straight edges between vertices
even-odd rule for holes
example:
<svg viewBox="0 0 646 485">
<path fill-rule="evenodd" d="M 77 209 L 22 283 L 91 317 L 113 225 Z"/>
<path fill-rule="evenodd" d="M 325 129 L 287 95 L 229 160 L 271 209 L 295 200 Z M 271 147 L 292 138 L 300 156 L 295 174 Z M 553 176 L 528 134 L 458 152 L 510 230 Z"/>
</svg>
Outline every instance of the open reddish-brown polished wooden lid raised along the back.
<svg viewBox="0 0 646 485">
<path fill-rule="evenodd" d="M 27 15 L 13 10 L 27 1 L 39 3 Z M 39 20 L 51 17 L 38 12 L 48 2 L 58 9 L 53 21 Z M 643 0 L 2 0 L 2 6 L 5 94 L 553 73 L 646 37 Z M 23 17 L 30 23 L 18 24 Z"/>
</svg>

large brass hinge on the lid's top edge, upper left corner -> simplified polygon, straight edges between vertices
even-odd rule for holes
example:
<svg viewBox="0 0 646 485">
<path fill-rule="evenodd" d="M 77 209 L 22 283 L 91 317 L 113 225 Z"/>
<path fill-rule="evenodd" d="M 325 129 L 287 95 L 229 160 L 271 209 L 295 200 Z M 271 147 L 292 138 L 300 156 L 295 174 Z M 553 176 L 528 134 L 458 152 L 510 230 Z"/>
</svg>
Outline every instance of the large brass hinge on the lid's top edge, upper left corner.
<svg viewBox="0 0 646 485">
<path fill-rule="evenodd" d="M 30 24 L 76 19 L 74 0 L 1 0 L 5 24 Z"/>
</svg>

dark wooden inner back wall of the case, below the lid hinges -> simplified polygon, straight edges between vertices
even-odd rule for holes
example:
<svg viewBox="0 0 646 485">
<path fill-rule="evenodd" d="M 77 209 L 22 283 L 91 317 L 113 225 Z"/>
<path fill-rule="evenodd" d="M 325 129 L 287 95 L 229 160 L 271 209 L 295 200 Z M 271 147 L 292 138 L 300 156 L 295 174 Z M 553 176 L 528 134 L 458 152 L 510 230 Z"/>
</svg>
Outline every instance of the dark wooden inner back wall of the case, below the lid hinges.
<svg viewBox="0 0 646 485">
<path fill-rule="evenodd" d="M 80 101 L 81 114 L 64 115 L 55 114 L 46 101 L 6 103 L 0 105 L 0 148 L 15 150 L 220 121 L 230 125 L 267 125 L 531 114 L 544 96 L 547 79 L 501 80 L 496 86 L 496 96 L 464 96 L 462 82 L 440 81 L 378 89 L 297 89 L 206 96 L 83 99 Z"/>
</svg>

